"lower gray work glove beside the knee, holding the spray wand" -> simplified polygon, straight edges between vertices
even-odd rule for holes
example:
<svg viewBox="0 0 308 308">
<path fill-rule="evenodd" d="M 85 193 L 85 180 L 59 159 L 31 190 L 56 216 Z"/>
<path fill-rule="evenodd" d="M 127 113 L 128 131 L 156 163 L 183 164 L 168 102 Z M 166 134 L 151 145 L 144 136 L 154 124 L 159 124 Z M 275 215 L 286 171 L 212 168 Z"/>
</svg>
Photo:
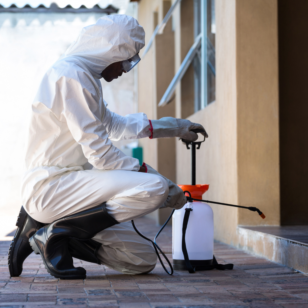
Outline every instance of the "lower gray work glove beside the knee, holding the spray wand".
<svg viewBox="0 0 308 308">
<path fill-rule="evenodd" d="M 164 208 L 175 208 L 176 210 L 181 209 L 187 203 L 187 199 L 186 199 L 186 196 L 183 193 L 183 190 L 179 186 L 174 184 L 172 181 L 170 181 L 166 177 L 162 176 L 160 173 L 158 173 L 155 169 L 153 169 L 148 164 L 145 164 L 145 165 L 148 168 L 147 173 L 159 175 L 159 176 L 163 177 L 168 183 L 169 194 L 168 194 L 167 200 L 160 207 L 160 209 L 164 209 Z"/>
</svg>

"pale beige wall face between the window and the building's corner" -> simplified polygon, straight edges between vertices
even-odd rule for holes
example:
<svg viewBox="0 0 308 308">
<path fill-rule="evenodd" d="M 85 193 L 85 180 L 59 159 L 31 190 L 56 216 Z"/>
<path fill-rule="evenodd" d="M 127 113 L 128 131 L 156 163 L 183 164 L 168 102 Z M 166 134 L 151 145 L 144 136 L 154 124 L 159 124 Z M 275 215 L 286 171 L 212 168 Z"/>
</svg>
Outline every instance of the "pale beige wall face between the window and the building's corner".
<svg viewBox="0 0 308 308">
<path fill-rule="evenodd" d="M 237 204 L 235 1 L 217 2 L 216 22 L 216 102 L 188 119 L 201 123 L 209 134 L 196 151 L 196 183 L 210 185 L 204 198 Z M 177 183 L 190 184 L 190 151 L 180 142 Z M 237 226 L 237 209 L 222 205 L 212 208 L 215 238 L 236 241 L 232 230 Z"/>
</svg>

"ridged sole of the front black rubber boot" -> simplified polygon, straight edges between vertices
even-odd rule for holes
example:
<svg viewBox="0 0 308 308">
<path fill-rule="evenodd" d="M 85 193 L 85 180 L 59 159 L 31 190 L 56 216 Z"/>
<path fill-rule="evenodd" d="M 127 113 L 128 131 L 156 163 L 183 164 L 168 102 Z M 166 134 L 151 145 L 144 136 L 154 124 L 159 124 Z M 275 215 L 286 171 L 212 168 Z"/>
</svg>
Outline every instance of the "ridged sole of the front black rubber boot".
<svg viewBox="0 0 308 308">
<path fill-rule="evenodd" d="M 76 270 L 75 274 L 72 274 L 72 271 L 57 270 L 57 269 L 52 270 L 51 268 L 53 268 L 54 266 L 51 264 L 49 260 L 45 260 L 44 255 L 41 249 L 39 248 L 39 245 L 37 245 L 35 238 L 33 236 L 30 237 L 29 243 L 34 253 L 41 255 L 45 269 L 49 274 L 51 274 L 51 276 L 54 276 L 55 278 L 59 279 L 86 279 L 86 270 L 84 270 L 84 273 L 80 270 Z"/>
</svg>

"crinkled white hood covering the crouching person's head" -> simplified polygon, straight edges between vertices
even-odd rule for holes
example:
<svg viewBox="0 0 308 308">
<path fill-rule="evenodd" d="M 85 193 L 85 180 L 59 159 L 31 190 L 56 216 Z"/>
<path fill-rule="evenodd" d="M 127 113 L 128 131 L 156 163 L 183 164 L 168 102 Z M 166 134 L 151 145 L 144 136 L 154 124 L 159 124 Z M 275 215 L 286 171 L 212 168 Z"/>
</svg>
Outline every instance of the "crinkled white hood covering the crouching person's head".
<svg viewBox="0 0 308 308">
<path fill-rule="evenodd" d="M 95 79 L 100 79 L 108 65 L 131 58 L 143 47 L 144 30 L 135 18 L 108 15 L 84 27 L 58 61 L 78 58 Z"/>
</svg>

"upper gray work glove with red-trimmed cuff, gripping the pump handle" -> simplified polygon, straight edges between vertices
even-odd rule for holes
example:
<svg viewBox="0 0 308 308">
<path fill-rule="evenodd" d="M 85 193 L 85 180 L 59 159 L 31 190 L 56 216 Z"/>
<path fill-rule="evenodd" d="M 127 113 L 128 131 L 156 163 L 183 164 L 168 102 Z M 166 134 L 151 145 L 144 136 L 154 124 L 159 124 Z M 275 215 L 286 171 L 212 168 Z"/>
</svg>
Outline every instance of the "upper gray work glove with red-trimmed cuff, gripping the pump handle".
<svg viewBox="0 0 308 308">
<path fill-rule="evenodd" d="M 179 137 L 189 141 L 196 141 L 198 135 L 192 132 L 192 129 L 202 129 L 204 130 L 205 138 L 208 137 L 208 134 L 201 124 L 193 123 L 185 119 L 176 119 L 167 116 L 159 120 L 151 120 L 151 123 L 153 126 L 152 138 Z"/>
</svg>

